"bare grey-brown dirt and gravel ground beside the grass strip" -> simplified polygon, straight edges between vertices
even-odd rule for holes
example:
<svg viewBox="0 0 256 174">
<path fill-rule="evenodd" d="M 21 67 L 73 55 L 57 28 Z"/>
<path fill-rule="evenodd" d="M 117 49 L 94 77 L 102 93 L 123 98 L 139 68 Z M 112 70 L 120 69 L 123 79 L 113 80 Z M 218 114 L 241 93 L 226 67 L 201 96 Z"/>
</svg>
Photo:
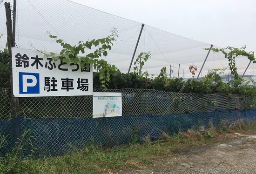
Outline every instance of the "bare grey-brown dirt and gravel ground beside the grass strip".
<svg viewBox="0 0 256 174">
<path fill-rule="evenodd" d="M 170 157 L 118 174 L 256 174 L 256 132 L 225 136 L 222 142 L 172 151 Z"/>
</svg>

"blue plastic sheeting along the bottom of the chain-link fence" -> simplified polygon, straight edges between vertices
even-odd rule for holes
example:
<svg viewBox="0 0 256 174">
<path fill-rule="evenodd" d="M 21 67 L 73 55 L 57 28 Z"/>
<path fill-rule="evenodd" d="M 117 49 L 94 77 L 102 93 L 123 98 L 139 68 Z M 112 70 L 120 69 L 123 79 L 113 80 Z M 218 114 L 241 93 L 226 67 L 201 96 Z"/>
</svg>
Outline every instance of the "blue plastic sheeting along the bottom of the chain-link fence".
<svg viewBox="0 0 256 174">
<path fill-rule="evenodd" d="M 227 128 L 232 122 L 243 119 L 255 121 L 255 110 L 216 110 L 205 113 L 159 115 L 123 115 L 107 118 L 34 118 L 23 116 L 12 120 L 0 120 L 0 133 L 9 134 L 8 147 L 0 149 L 0 154 L 8 152 L 14 144 L 12 139 L 13 122 L 19 121 L 20 134 L 31 129 L 36 140 L 37 155 L 63 154 L 68 150 L 84 147 L 87 143 L 104 146 L 128 144 L 134 134 L 138 142 L 149 135 L 157 139 L 162 132 L 175 134 L 178 131 L 209 127 L 209 122 L 220 129 Z"/>
</svg>

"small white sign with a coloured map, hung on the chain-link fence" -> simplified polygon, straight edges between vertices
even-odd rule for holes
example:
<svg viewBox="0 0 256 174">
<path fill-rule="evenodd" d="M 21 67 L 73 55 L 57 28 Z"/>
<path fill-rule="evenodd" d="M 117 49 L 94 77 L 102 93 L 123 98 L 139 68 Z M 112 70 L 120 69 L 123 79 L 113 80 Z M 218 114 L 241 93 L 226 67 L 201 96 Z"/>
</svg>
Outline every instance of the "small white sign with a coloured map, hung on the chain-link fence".
<svg viewBox="0 0 256 174">
<path fill-rule="evenodd" d="M 93 93 L 93 117 L 122 116 L 121 93 Z"/>
</svg>

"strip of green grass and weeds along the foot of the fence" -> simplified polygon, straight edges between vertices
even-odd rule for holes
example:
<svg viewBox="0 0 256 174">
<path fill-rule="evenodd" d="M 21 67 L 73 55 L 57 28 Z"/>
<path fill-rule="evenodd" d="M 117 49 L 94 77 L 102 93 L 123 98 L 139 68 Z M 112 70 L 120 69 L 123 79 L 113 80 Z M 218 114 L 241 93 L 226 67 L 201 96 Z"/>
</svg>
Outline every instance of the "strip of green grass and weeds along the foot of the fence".
<svg viewBox="0 0 256 174">
<path fill-rule="evenodd" d="M 237 121 L 229 127 L 232 130 L 255 130 L 254 124 L 242 124 Z M 211 125 L 208 133 L 214 138 L 222 137 Z M 76 152 L 69 152 L 61 156 L 50 156 L 44 159 L 21 159 L 14 156 L 0 158 L 0 173 L 3 174 L 115 174 L 123 168 L 140 168 L 159 158 L 172 158 L 170 152 L 174 149 L 211 144 L 216 139 L 205 136 L 195 130 L 169 136 L 163 133 L 161 140 L 151 142 L 149 136 L 145 136 L 144 144 L 129 144 L 119 147 L 102 147 L 88 145 Z M 218 140 L 218 139 L 217 139 Z M 4 142 L 4 141 L 3 141 Z M 22 147 L 22 145 L 20 145 Z M 9 154 L 11 155 L 11 154 Z M 12 161 L 12 159 L 14 159 Z M 7 161 L 7 162 L 6 162 Z"/>
</svg>

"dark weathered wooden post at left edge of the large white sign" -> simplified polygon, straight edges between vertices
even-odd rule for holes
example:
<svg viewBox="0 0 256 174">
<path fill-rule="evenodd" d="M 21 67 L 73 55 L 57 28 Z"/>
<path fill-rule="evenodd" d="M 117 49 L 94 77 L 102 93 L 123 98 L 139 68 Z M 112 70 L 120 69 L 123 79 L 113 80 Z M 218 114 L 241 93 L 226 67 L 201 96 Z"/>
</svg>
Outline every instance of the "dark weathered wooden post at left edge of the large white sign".
<svg viewBox="0 0 256 174">
<path fill-rule="evenodd" d="M 13 71 L 12 71 L 12 47 L 13 43 L 13 31 L 12 31 L 12 18 L 10 3 L 5 2 L 6 10 L 6 27 L 7 27 L 7 44 L 8 44 L 8 58 L 9 58 L 9 74 L 10 74 L 10 87 L 11 87 L 11 116 L 16 117 L 20 114 L 19 98 L 13 96 Z M 20 120 L 13 120 L 13 140 L 14 143 L 20 138 Z"/>
</svg>

